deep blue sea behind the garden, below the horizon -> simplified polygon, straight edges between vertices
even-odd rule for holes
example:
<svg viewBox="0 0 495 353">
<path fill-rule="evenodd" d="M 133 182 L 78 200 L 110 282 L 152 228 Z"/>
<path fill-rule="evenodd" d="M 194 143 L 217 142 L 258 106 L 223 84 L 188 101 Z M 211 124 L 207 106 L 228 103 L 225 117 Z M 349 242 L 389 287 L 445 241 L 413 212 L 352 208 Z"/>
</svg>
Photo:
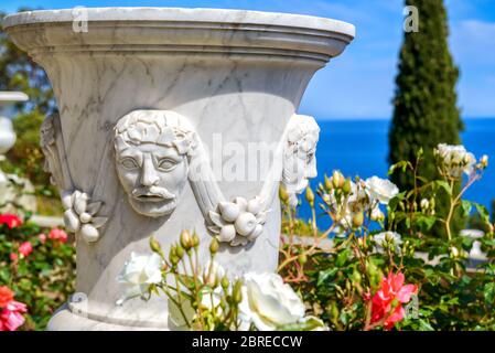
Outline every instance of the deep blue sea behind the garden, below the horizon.
<svg viewBox="0 0 495 353">
<path fill-rule="evenodd" d="M 388 172 L 389 120 L 319 120 L 320 142 L 316 149 L 319 175 L 311 184 L 316 186 L 323 175 L 341 170 L 344 175 L 386 178 Z M 462 142 L 476 158 L 488 154 L 492 165 L 481 181 L 467 191 L 465 199 L 491 208 L 495 200 L 495 118 L 464 119 Z M 310 217 L 306 206 L 299 212 Z"/>
</svg>

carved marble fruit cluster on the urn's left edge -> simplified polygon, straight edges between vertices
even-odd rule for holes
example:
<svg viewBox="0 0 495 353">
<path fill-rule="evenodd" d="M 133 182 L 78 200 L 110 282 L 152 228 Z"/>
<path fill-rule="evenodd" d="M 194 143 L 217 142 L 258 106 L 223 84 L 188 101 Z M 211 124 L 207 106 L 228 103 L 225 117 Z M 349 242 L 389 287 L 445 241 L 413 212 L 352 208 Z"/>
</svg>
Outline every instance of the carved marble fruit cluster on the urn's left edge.
<svg viewBox="0 0 495 353">
<path fill-rule="evenodd" d="M 99 228 L 105 225 L 108 217 L 97 216 L 103 202 L 90 202 L 88 194 L 78 190 L 62 193 L 64 206 L 64 223 L 68 232 L 82 236 L 87 243 L 99 239 Z"/>
</svg>

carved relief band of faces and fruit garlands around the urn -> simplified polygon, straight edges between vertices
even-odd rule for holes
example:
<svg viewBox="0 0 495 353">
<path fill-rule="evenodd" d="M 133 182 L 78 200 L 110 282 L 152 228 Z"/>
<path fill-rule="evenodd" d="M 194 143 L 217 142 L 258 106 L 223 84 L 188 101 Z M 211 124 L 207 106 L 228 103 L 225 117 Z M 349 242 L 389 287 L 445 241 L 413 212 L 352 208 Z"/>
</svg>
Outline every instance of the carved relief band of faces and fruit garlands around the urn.
<svg viewBox="0 0 495 353">
<path fill-rule="evenodd" d="M 219 242 L 245 246 L 263 232 L 269 205 L 280 181 L 292 205 L 316 176 L 315 150 L 320 128 L 314 118 L 293 115 L 273 156 L 273 165 L 251 200 L 227 200 L 215 180 L 209 157 L 189 120 L 170 110 L 134 110 L 115 127 L 115 156 L 119 181 L 131 207 L 149 217 L 173 213 L 186 182 L 194 192 L 206 226 Z M 99 239 L 107 217 L 98 215 L 101 202 L 73 185 L 58 116 L 45 119 L 41 129 L 45 170 L 62 190 L 66 228 L 86 242 Z"/>
</svg>

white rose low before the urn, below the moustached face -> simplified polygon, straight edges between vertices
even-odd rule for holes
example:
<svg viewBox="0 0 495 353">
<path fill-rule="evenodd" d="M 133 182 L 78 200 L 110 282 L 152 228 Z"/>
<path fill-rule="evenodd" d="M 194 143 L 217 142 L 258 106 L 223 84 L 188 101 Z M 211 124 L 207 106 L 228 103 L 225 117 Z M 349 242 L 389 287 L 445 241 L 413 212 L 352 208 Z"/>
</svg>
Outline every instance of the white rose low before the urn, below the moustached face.
<svg viewBox="0 0 495 353">
<path fill-rule="evenodd" d="M 162 259 L 157 254 L 143 255 L 131 253 L 130 259 L 123 265 L 123 269 L 117 277 L 117 281 L 123 287 L 125 293 L 117 301 L 121 306 L 127 299 L 142 296 L 153 284 L 162 280 Z"/>
</svg>

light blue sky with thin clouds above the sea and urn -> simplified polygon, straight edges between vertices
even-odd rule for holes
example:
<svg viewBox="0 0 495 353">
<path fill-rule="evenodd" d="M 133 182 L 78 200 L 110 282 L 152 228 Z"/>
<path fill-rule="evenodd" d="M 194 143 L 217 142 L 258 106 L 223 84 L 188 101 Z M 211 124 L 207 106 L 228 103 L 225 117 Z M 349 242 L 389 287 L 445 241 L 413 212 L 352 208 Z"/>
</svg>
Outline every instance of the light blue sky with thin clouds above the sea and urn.
<svg viewBox="0 0 495 353">
<path fill-rule="evenodd" d="M 389 118 L 402 33 L 402 0 L 11 0 L 22 6 L 63 9 L 75 6 L 225 8 L 327 17 L 356 25 L 344 54 L 316 73 L 300 113 L 320 119 Z M 445 0 L 450 44 L 461 68 L 458 92 L 464 117 L 495 117 L 495 0 Z"/>
</svg>

